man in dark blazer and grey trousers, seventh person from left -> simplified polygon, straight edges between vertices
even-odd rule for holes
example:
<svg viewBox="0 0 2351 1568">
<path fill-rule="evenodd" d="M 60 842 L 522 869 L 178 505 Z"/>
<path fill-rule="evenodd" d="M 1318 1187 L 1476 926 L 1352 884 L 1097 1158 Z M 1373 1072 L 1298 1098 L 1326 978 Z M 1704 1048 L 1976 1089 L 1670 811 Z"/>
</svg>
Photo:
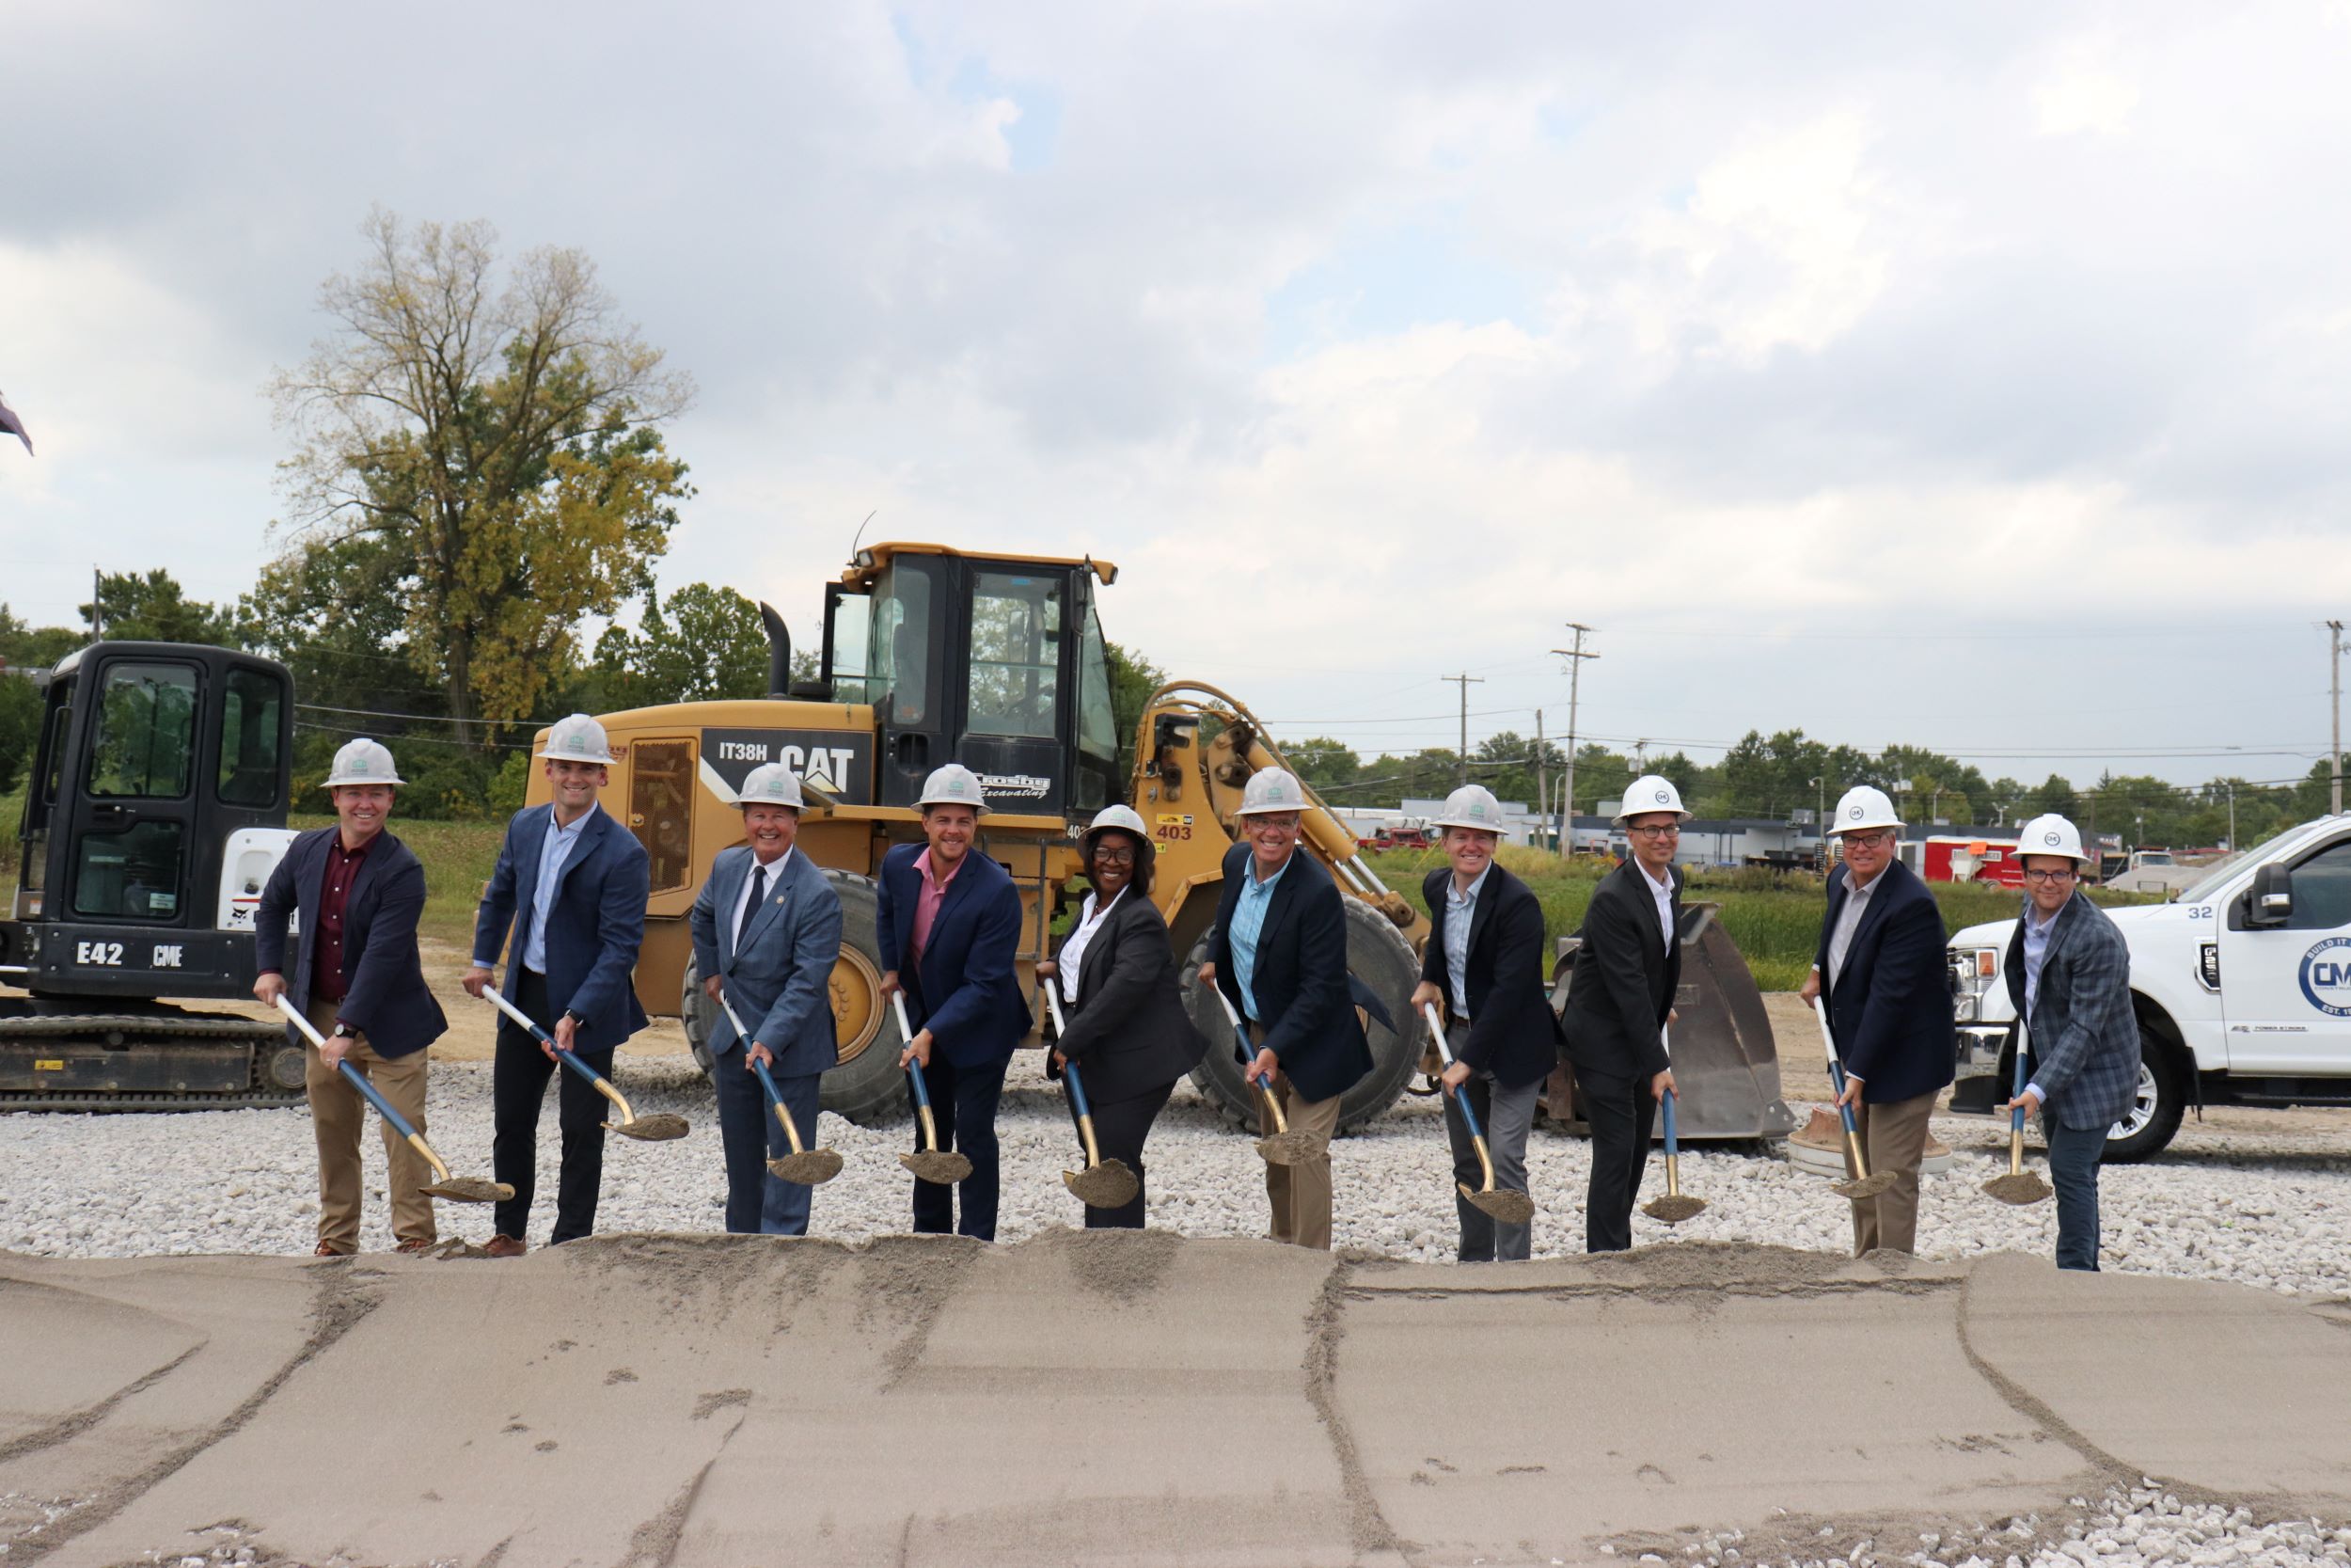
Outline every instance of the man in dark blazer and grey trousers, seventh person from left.
<svg viewBox="0 0 2351 1568">
<path fill-rule="evenodd" d="M 1460 1100 L 1486 1128 L 1493 1185 L 1526 1192 L 1526 1135 L 1535 1126 L 1542 1081 L 1559 1065 L 1559 1016 L 1542 994 L 1542 903 L 1533 889 L 1493 863 L 1502 842 L 1502 802 L 1483 785 L 1462 785 L 1436 813 L 1448 865 L 1420 884 L 1429 905 L 1413 1011 L 1441 1009 L 1446 1046 L 1446 1138 L 1453 1178 L 1476 1190 L 1479 1168 Z M 1491 1213 L 1455 1194 L 1462 1262 L 1509 1262 L 1533 1246 L 1531 1225 L 1498 1225 Z"/>
</svg>

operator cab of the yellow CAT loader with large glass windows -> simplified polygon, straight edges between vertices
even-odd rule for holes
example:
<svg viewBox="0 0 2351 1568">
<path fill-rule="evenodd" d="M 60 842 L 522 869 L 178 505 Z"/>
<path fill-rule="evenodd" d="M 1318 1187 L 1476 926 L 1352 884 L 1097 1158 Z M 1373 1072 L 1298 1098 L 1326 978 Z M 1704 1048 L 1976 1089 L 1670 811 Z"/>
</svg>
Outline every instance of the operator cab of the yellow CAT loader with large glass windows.
<svg viewBox="0 0 2351 1568">
<path fill-rule="evenodd" d="M 1086 818 L 1119 799 L 1119 736 L 1093 559 L 858 550 L 825 585 L 823 682 L 872 703 L 877 806 L 912 806 L 947 762 L 994 811 Z"/>
</svg>

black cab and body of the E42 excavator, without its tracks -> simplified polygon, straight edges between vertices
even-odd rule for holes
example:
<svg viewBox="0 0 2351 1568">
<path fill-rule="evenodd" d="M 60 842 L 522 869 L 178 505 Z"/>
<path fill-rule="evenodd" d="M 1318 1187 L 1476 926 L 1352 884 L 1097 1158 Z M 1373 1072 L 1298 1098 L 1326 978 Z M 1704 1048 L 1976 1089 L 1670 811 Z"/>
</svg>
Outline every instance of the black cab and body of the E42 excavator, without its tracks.
<svg viewBox="0 0 2351 1568">
<path fill-rule="evenodd" d="M 49 672 L 0 976 L 54 997 L 237 997 L 240 867 L 275 865 L 294 686 L 268 658 L 94 642 Z M 235 884 L 235 886 L 230 886 Z"/>
</svg>

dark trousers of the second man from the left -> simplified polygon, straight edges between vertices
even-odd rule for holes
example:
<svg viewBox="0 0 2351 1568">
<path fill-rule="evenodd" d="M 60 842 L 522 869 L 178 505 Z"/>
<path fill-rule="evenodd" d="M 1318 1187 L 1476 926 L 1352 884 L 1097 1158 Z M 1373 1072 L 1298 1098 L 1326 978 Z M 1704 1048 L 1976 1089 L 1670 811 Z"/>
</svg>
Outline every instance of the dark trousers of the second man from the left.
<svg viewBox="0 0 2351 1568">
<path fill-rule="evenodd" d="M 548 1011 L 548 978 L 515 966 L 515 1006 L 555 1032 Z M 581 1051 L 578 1058 L 611 1077 L 611 1051 Z M 555 1119 L 564 1131 L 564 1166 L 555 1182 L 555 1241 L 578 1241 L 595 1229 L 595 1199 L 604 1185 L 604 1107 L 609 1100 L 576 1072 L 548 1060 L 538 1041 L 513 1018 L 498 1018 L 498 1056 L 489 1074 L 491 1145 L 489 1166 L 515 1190 L 494 1211 L 501 1237 L 522 1239 L 531 1222 L 531 1194 L 538 1190 L 538 1112 L 548 1100 L 548 1074 L 564 1084 L 555 1095 Z"/>
</svg>

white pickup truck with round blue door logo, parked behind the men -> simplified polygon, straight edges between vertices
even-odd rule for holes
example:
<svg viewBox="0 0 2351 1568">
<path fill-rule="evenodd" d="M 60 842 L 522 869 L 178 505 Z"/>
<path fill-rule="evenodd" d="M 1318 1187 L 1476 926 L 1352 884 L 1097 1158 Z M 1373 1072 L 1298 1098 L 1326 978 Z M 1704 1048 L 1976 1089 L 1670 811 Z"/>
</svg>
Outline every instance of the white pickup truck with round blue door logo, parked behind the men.
<svg viewBox="0 0 2351 1568">
<path fill-rule="evenodd" d="M 2189 1105 L 2351 1105 L 2351 813 L 2290 827 L 2172 903 L 2109 914 L 2130 943 L 2142 1053 L 2109 1161 L 2158 1152 Z M 2015 929 L 1951 938 L 1954 1112 L 2008 1103 L 2015 1009 L 2001 961 Z"/>
</svg>

